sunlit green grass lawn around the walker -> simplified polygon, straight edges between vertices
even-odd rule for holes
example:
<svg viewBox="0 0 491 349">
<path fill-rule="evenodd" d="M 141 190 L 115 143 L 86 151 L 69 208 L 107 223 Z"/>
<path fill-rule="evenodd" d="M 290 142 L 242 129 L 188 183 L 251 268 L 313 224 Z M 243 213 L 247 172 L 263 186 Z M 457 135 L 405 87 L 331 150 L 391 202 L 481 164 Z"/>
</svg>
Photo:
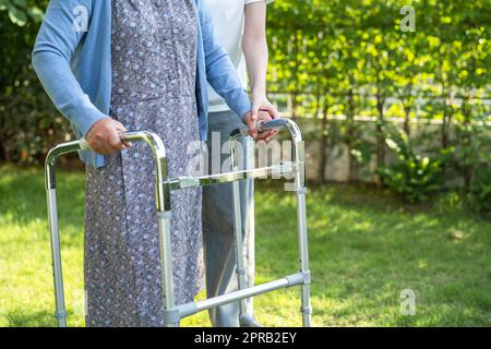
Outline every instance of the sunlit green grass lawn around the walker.
<svg viewBox="0 0 491 349">
<path fill-rule="evenodd" d="M 256 191 L 256 279 L 298 268 L 295 196 Z M 71 326 L 83 326 L 83 174 L 59 176 L 59 214 Z M 360 185 L 308 194 L 315 326 L 490 326 L 491 224 L 451 201 L 407 207 Z M 400 291 L 416 291 L 415 316 Z M 254 299 L 259 320 L 298 326 L 299 291 Z M 200 294 L 199 298 L 203 298 Z M 0 326 L 53 326 L 43 171 L 0 167 Z M 206 313 L 183 325 L 208 326 Z"/>
</svg>

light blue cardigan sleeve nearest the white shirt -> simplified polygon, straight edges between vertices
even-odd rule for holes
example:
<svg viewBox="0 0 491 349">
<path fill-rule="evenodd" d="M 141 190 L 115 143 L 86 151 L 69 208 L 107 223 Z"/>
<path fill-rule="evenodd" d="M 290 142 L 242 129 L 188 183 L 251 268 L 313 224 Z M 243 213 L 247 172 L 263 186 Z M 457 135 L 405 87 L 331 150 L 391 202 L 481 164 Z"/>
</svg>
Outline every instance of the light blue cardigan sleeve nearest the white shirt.
<svg viewBox="0 0 491 349">
<path fill-rule="evenodd" d="M 207 81 L 227 105 L 243 118 L 252 109 L 248 93 L 227 51 L 215 39 L 212 16 L 203 0 L 199 0 L 197 10 L 203 32 Z"/>
</svg>

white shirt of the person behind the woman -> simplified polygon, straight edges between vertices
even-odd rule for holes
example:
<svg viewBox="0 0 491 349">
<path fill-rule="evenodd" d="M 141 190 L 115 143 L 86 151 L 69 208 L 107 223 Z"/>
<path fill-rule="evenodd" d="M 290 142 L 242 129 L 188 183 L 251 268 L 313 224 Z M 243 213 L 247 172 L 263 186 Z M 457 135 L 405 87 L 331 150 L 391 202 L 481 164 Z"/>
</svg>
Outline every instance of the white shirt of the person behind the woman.
<svg viewBox="0 0 491 349">
<path fill-rule="evenodd" d="M 273 0 L 206 0 L 215 26 L 215 36 L 230 53 L 233 67 L 237 69 L 244 88 L 248 86 L 246 58 L 242 52 L 242 36 L 244 23 L 244 7 L 253 2 Z M 230 110 L 225 100 L 208 86 L 209 112 Z"/>
</svg>

